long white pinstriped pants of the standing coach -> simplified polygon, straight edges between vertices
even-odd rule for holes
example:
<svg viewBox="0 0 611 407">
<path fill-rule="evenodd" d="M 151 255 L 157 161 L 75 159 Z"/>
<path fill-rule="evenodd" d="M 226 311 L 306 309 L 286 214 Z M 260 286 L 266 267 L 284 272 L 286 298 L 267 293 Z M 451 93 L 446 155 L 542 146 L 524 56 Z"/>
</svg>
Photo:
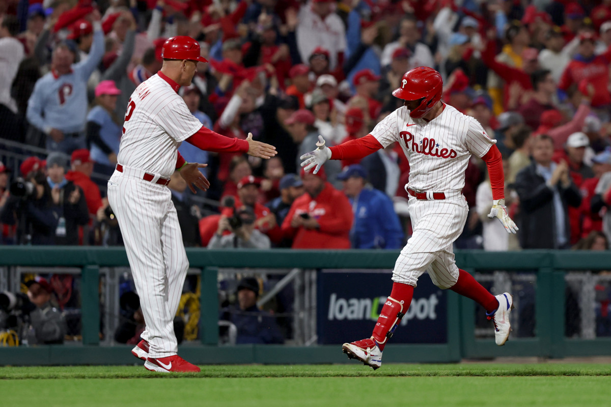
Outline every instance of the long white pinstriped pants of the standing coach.
<svg viewBox="0 0 611 407">
<path fill-rule="evenodd" d="M 115 171 L 108 181 L 108 201 L 119 221 L 146 328 L 142 339 L 151 358 L 178 353 L 174 315 L 189 261 L 172 193 Z"/>
</svg>

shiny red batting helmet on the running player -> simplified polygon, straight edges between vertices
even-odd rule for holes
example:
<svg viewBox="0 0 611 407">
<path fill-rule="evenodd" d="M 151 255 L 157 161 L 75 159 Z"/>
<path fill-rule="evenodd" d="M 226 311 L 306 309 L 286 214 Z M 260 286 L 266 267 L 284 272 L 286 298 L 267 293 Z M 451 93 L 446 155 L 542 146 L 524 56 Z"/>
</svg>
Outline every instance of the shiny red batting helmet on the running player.
<svg viewBox="0 0 611 407">
<path fill-rule="evenodd" d="M 418 107 L 409 112 L 415 119 L 423 117 L 441 100 L 444 81 L 441 74 L 429 67 L 418 67 L 407 71 L 401 78 L 401 87 L 395 89 L 392 95 L 403 100 L 419 100 Z"/>
</svg>

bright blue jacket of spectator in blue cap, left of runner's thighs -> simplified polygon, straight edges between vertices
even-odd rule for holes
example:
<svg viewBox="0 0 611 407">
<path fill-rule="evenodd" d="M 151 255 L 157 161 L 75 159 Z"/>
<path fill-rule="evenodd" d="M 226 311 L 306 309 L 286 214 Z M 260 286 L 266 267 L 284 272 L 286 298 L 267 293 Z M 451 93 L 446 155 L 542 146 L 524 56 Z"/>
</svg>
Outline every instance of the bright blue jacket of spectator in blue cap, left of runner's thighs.
<svg viewBox="0 0 611 407">
<path fill-rule="evenodd" d="M 403 229 L 392 201 L 367 185 L 356 198 L 349 198 L 354 212 L 350 241 L 355 249 L 403 247 Z"/>
</svg>

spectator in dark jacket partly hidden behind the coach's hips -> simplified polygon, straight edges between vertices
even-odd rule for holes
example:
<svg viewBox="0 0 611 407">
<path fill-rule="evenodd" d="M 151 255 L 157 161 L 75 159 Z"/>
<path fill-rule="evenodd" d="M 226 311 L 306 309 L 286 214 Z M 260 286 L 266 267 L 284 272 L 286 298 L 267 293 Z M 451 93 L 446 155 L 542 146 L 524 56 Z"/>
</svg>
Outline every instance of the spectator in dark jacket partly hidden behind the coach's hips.
<svg viewBox="0 0 611 407">
<path fill-rule="evenodd" d="M 186 193 L 187 183 L 178 171 L 174 171 L 167 187 L 172 192 L 172 203 L 178 215 L 178 224 L 185 247 L 199 246 L 202 241 L 199 236 L 199 220 L 202 218 L 202 212 L 199 206 L 191 203 Z"/>
</svg>

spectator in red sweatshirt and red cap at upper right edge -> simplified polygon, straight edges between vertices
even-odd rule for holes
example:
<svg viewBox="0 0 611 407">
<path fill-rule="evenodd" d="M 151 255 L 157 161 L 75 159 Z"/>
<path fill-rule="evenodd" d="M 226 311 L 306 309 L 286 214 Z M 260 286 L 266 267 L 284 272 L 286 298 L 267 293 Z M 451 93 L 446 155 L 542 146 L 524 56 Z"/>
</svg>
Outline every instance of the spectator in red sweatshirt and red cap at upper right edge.
<svg viewBox="0 0 611 407">
<path fill-rule="evenodd" d="M 604 108 L 611 104 L 611 94 L 608 88 L 611 47 L 598 56 L 594 54 L 594 49 L 594 34 L 591 32 L 580 34 L 577 55 L 566 65 L 558 81 L 558 88 L 566 91 L 573 85 L 580 85 L 582 81 L 588 82 L 594 87 L 591 106 Z"/>
</svg>

